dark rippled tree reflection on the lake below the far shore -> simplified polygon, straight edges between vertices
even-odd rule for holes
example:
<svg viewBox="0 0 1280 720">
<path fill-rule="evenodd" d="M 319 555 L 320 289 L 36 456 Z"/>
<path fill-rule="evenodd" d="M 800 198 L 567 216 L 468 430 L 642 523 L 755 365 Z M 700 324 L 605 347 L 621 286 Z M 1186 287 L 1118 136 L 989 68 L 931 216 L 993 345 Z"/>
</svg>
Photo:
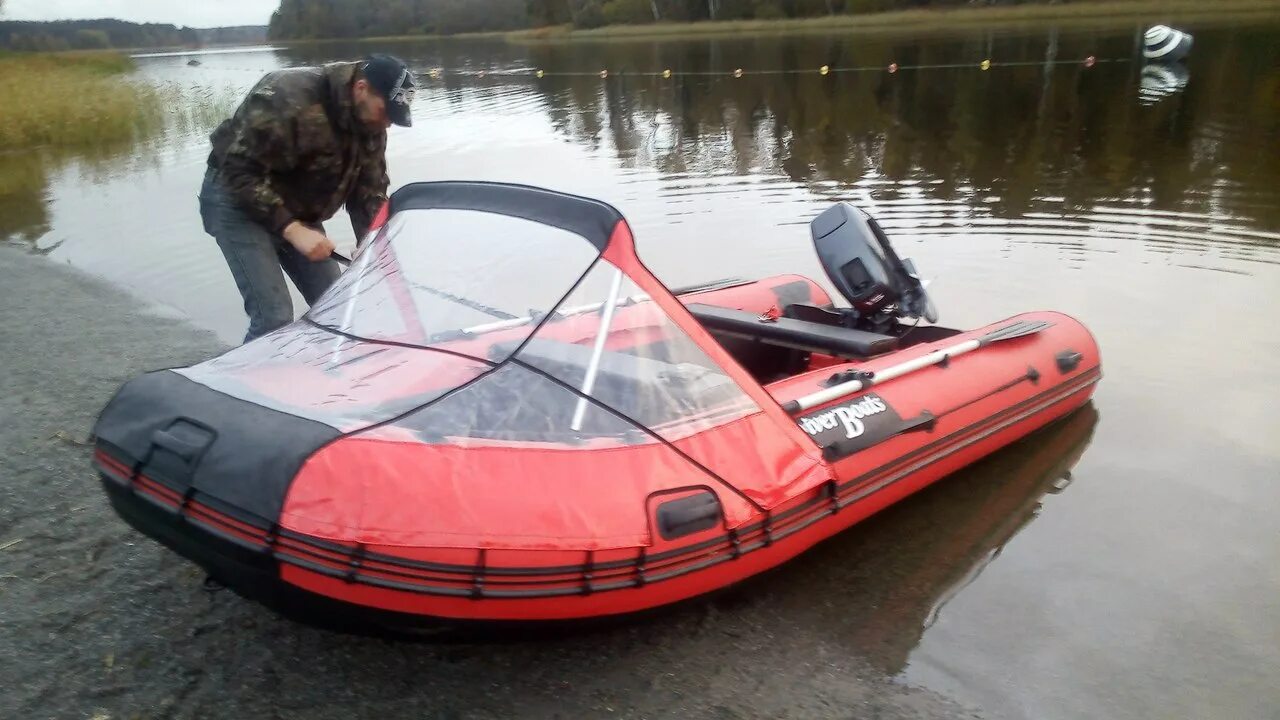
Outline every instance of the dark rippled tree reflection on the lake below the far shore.
<svg viewBox="0 0 1280 720">
<path fill-rule="evenodd" d="M 1068 266 L 1125 246 L 1184 250 L 1201 256 L 1194 266 L 1239 273 L 1240 260 L 1280 263 L 1280 154 L 1258 151 L 1280 143 L 1271 37 L 1201 29 L 1187 67 L 1157 69 L 1130 28 L 394 50 L 424 70 L 472 73 L 429 77 L 438 95 L 424 124 L 543 114 L 575 145 L 611 155 L 623 184 L 657 184 L 653 213 L 667 228 L 740 204 L 778 205 L 774 224 L 803 224 L 817 205 L 849 200 L 922 242 L 1050 245 Z M 983 72 L 986 58 L 996 64 Z M 867 69 L 823 76 L 822 65 Z M 960 67 L 905 69 L 915 65 Z M 742 78 L 723 74 L 736 67 Z M 663 68 L 673 77 L 635 74 Z M 794 72 L 753 74 L 778 69 Z M 667 282 L 699 279 L 666 260 Z"/>
</svg>

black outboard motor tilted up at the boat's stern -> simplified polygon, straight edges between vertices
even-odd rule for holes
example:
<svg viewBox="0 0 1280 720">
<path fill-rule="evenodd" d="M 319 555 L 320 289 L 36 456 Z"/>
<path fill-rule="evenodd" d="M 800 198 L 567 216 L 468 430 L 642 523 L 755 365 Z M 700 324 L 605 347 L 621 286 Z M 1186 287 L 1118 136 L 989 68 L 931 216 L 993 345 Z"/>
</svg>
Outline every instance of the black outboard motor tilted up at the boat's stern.
<svg viewBox="0 0 1280 720">
<path fill-rule="evenodd" d="M 841 324 L 887 332 L 900 318 L 938 320 L 910 258 L 900 259 L 884 231 L 863 210 L 837 202 L 809 223 L 827 277 L 851 307 Z"/>
</svg>

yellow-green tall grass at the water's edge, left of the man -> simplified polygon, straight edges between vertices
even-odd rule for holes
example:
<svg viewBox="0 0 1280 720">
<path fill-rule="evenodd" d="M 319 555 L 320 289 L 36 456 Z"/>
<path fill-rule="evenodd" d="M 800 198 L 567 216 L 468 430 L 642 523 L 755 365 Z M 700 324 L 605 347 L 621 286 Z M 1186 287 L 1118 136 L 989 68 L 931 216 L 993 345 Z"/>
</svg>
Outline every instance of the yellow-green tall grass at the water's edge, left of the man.
<svg viewBox="0 0 1280 720">
<path fill-rule="evenodd" d="M 92 147 L 164 124 L 163 99 L 115 54 L 0 55 L 0 150 Z"/>
</svg>

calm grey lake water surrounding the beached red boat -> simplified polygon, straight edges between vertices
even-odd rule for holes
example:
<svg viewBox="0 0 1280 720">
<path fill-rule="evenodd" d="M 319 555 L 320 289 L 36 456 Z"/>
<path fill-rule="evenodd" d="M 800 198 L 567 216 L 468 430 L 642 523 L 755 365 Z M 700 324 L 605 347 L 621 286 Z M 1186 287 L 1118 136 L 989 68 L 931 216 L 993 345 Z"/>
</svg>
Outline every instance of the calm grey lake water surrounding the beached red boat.
<svg viewBox="0 0 1280 720">
<path fill-rule="evenodd" d="M 424 86 L 392 183 L 599 197 L 669 286 L 819 272 L 806 224 L 847 200 L 937 278 L 943 324 L 1082 319 L 1091 407 L 748 602 L 991 716 L 1275 717 L 1280 26 L 1188 26 L 1174 69 L 1143 67 L 1140 29 L 383 46 Z M 0 159 L 0 232 L 234 342 L 239 296 L 197 215 L 210 122 L 268 69 L 364 50 L 141 58 L 187 99 L 174 127 Z M 344 217 L 329 229 L 352 246 Z"/>
</svg>

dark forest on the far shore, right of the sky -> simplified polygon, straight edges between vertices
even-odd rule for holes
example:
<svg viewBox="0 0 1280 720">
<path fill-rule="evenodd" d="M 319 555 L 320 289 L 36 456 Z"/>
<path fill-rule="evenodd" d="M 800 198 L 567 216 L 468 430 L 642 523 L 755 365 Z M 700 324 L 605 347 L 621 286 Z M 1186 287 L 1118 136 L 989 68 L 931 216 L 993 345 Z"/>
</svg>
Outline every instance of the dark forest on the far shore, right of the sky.
<svg viewBox="0 0 1280 720">
<path fill-rule="evenodd" d="M 771 19 L 1052 0 L 280 0 L 273 40 Z"/>
</svg>

